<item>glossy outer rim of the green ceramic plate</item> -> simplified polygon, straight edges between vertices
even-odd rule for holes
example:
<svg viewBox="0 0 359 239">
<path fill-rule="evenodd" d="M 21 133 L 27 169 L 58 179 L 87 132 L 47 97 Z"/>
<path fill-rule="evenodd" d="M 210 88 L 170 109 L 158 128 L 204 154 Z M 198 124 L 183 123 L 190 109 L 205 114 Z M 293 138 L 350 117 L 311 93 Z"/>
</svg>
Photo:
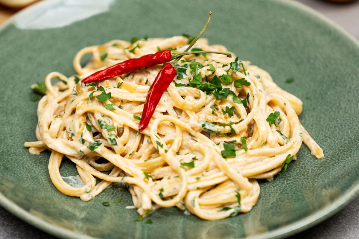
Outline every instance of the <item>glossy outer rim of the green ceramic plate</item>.
<svg viewBox="0 0 359 239">
<path fill-rule="evenodd" d="M 9 19 L 5 20 L 3 23 L 0 24 L 0 32 L 8 26 L 9 24 L 13 23 L 14 20 L 19 17 L 20 15 L 26 14 L 27 12 L 32 11 L 35 8 L 45 6 L 45 5 L 52 5 L 56 2 L 60 2 L 61 0 L 43 0 L 41 2 L 37 2 L 27 8 L 24 8 L 14 15 L 12 15 Z M 332 27 L 335 31 L 340 32 L 343 34 L 348 40 L 353 42 L 359 50 L 359 41 L 351 35 L 348 31 L 342 28 L 333 20 L 327 18 L 322 13 L 310 8 L 303 3 L 298 1 L 290 1 L 290 0 L 271 0 L 273 2 L 277 2 L 286 6 L 297 8 L 299 11 L 303 11 L 309 13 L 310 15 L 314 15 L 321 20 L 323 23 L 326 23 L 328 27 Z M 288 237 L 297 233 L 300 233 L 306 229 L 309 229 L 320 222 L 328 219 L 329 217 L 333 216 L 340 210 L 342 210 L 345 206 L 347 206 L 350 202 L 354 200 L 354 198 L 359 196 L 359 181 L 356 182 L 356 185 L 353 186 L 350 190 L 348 190 L 344 195 L 340 196 L 334 202 L 331 202 L 328 206 L 322 208 L 321 210 L 317 211 L 316 213 L 304 217 L 299 221 L 292 222 L 284 227 L 280 227 L 278 229 L 267 231 L 265 233 L 261 233 L 255 236 L 250 236 L 247 238 L 250 239 L 278 239 Z M 83 235 L 80 233 L 76 233 L 75 231 L 63 228 L 61 226 L 57 226 L 55 224 L 51 224 L 46 222 L 45 220 L 32 215 L 30 212 L 24 210 L 22 207 L 17 205 L 15 202 L 8 199 L 1 191 L 0 191 L 0 206 L 5 208 L 5 210 L 9 211 L 11 214 L 15 215 L 19 219 L 23 220 L 24 222 L 34 226 L 35 228 L 45 231 L 48 234 L 58 236 L 59 238 L 65 239 L 95 239 L 93 236 Z"/>
</svg>

